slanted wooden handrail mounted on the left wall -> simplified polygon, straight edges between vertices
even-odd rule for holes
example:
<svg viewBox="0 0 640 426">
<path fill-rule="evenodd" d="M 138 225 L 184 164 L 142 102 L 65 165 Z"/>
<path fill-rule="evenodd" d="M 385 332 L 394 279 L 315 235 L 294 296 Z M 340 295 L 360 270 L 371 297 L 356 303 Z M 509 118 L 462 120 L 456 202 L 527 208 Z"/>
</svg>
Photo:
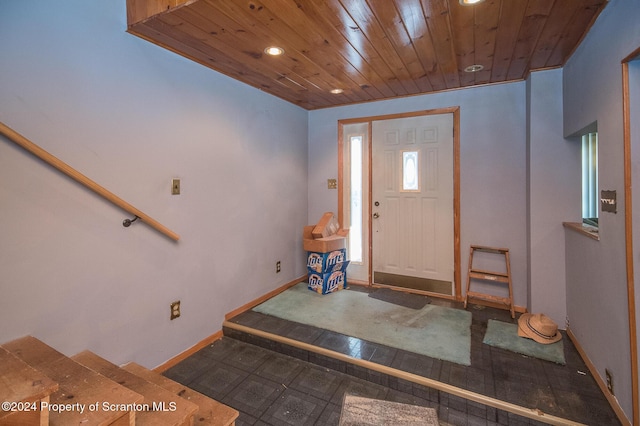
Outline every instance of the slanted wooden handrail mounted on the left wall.
<svg viewBox="0 0 640 426">
<path fill-rule="evenodd" d="M 65 162 L 63 162 L 60 159 L 56 158 L 55 156 L 49 154 L 47 151 L 45 151 L 44 149 L 40 148 L 38 145 L 34 144 L 29 139 L 25 138 L 20 133 L 18 133 L 15 130 L 11 129 L 10 127 L 8 127 L 7 125 L 5 125 L 2 122 L 0 122 L 0 134 L 6 136 L 11 141 L 13 141 L 16 144 L 20 145 L 21 147 L 23 147 L 24 149 L 26 149 L 27 151 L 29 151 L 30 153 L 32 153 L 36 157 L 40 158 L 44 162 L 48 163 L 49 165 L 51 165 L 51 166 L 55 167 L 56 169 L 60 170 L 62 173 L 66 174 L 70 178 L 72 178 L 75 181 L 77 181 L 77 182 L 81 183 L 82 185 L 86 186 L 87 188 L 89 188 L 90 190 L 95 192 L 96 194 L 98 194 L 101 197 L 107 199 L 108 201 L 111 201 L 113 204 L 115 204 L 116 206 L 120 207 L 122 210 L 124 210 L 124 211 L 126 211 L 126 212 L 128 212 L 128 213 L 130 213 L 132 215 L 138 216 L 140 218 L 140 220 L 142 220 L 143 222 L 145 222 L 147 225 L 151 226 L 152 228 L 156 229 L 157 231 L 163 233 L 167 237 L 169 237 L 169 238 L 171 238 L 171 239 L 173 239 L 175 241 L 178 241 L 180 239 L 180 236 L 178 234 L 176 234 L 175 232 L 173 232 L 169 228 L 165 227 L 164 225 L 162 225 L 157 220 L 153 219 L 149 215 L 147 215 L 147 214 L 141 212 L 140 210 L 138 210 L 137 208 L 133 207 L 131 204 L 127 203 L 126 201 L 124 201 L 122 198 L 118 197 L 117 195 L 115 195 L 111 191 L 109 191 L 109 190 L 103 188 L 102 186 L 98 185 L 93 180 L 89 179 L 88 177 L 86 177 L 82 173 L 78 172 L 73 167 L 69 166 L 68 164 L 66 164 Z"/>
</svg>

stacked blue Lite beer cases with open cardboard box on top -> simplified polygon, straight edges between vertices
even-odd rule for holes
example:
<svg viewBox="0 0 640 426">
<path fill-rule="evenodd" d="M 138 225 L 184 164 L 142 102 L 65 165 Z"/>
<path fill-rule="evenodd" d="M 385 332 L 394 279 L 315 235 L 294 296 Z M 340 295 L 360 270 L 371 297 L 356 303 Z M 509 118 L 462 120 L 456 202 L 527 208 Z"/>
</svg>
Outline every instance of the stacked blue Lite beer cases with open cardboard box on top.
<svg viewBox="0 0 640 426">
<path fill-rule="evenodd" d="M 305 227 L 309 290 L 327 294 L 347 287 L 347 233 L 331 212 L 316 225 Z"/>
</svg>

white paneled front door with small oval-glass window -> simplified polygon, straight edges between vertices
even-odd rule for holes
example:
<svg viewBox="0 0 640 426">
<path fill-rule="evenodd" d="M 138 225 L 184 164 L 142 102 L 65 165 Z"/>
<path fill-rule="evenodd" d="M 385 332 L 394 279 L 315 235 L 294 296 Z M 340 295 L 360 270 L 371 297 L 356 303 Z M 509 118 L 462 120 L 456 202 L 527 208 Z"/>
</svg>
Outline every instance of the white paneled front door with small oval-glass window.
<svg viewBox="0 0 640 426">
<path fill-rule="evenodd" d="M 373 122 L 374 283 L 454 294 L 453 145 L 451 113 Z"/>
</svg>

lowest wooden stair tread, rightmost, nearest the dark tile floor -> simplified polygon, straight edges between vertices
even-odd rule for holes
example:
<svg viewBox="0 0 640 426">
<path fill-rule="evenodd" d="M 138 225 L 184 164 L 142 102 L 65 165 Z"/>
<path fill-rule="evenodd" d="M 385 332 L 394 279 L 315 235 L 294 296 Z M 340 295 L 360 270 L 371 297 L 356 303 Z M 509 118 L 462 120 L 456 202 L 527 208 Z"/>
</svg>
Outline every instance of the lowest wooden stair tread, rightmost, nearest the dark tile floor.
<svg viewBox="0 0 640 426">
<path fill-rule="evenodd" d="M 174 395 L 197 404 L 199 409 L 194 415 L 194 425 L 230 426 L 235 424 L 235 421 L 238 418 L 239 413 L 237 410 L 175 382 L 168 377 L 136 364 L 135 362 L 126 364 L 122 368 L 167 389 Z"/>
</svg>

